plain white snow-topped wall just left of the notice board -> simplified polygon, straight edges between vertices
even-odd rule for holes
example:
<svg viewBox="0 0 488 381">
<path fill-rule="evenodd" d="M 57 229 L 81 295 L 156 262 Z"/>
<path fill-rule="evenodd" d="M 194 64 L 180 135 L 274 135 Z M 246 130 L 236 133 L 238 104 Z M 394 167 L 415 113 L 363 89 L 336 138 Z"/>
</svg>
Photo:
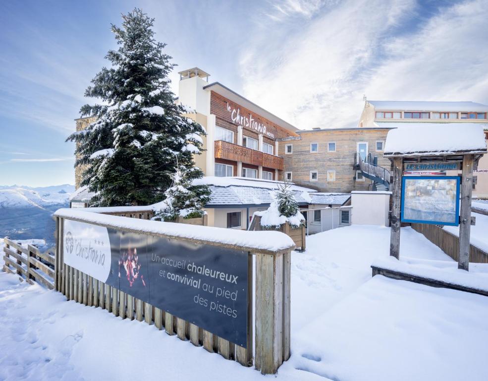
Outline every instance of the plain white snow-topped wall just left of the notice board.
<svg viewBox="0 0 488 381">
<path fill-rule="evenodd" d="M 351 223 L 357 225 L 388 226 L 391 192 L 352 191 Z"/>
</svg>

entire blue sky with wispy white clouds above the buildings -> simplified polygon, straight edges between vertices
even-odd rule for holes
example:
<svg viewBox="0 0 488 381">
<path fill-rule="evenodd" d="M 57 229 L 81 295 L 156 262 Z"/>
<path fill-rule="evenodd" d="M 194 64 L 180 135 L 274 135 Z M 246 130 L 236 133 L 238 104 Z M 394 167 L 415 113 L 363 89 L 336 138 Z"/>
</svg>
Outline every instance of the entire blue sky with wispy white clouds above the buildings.
<svg viewBox="0 0 488 381">
<path fill-rule="evenodd" d="M 116 47 L 110 23 L 134 6 L 179 69 L 199 66 L 298 128 L 357 123 L 364 94 L 488 104 L 486 0 L 3 0 L 1 185 L 74 183 L 64 140 Z"/>
</svg>

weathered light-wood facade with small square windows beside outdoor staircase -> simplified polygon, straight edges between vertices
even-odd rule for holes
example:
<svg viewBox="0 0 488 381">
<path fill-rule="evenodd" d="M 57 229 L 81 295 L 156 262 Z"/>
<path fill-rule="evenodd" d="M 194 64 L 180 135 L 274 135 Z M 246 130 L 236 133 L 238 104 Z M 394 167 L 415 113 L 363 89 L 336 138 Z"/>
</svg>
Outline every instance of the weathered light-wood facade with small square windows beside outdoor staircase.
<svg viewBox="0 0 488 381">
<path fill-rule="evenodd" d="M 383 152 L 376 150 L 377 141 L 386 140 L 389 128 L 343 128 L 299 131 L 298 138 L 279 141 L 278 155 L 283 158 L 284 172 L 291 172 L 292 182 L 324 192 L 368 191 L 371 181 L 356 180 L 356 153 L 358 143 L 368 143 L 368 153 L 378 157 L 378 165 L 389 169 L 390 163 Z M 335 143 L 335 151 L 328 150 L 328 143 Z M 312 143 L 318 151 L 311 152 Z M 286 153 L 286 145 L 292 153 Z M 317 171 L 317 181 L 311 181 L 310 171 Z M 335 181 L 327 181 L 327 171 L 335 171 Z"/>
</svg>

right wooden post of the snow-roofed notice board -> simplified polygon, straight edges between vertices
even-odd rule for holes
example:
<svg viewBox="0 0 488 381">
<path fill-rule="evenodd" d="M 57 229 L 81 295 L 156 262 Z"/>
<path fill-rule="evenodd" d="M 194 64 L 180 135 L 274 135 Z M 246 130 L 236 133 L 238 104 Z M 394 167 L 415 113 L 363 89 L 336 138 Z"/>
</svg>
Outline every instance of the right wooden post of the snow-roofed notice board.
<svg viewBox="0 0 488 381">
<path fill-rule="evenodd" d="M 463 156 L 461 183 L 461 210 L 459 220 L 459 260 L 458 268 L 469 270 L 471 232 L 471 194 L 473 192 L 473 155 Z"/>
</svg>

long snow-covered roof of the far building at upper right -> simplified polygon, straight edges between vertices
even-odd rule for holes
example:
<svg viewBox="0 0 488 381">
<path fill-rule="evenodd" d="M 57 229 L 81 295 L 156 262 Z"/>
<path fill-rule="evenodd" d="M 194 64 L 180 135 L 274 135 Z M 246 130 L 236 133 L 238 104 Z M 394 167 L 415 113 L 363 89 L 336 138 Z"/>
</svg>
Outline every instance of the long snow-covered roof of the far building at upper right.
<svg viewBox="0 0 488 381">
<path fill-rule="evenodd" d="M 375 110 L 488 112 L 488 106 L 475 102 L 368 101 Z"/>
</svg>

